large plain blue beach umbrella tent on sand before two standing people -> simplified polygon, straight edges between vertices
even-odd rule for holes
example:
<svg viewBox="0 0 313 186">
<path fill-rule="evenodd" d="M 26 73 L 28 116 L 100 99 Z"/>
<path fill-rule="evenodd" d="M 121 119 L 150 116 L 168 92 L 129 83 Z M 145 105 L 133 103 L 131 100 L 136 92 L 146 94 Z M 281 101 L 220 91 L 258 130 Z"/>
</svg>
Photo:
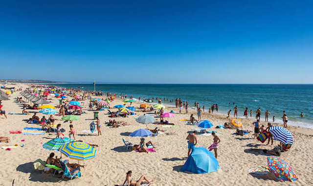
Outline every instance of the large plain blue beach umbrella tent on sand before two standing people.
<svg viewBox="0 0 313 186">
<path fill-rule="evenodd" d="M 216 172 L 219 168 L 219 162 L 211 151 L 204 147 L 195 147 L 182 166 L 181 171 L 202 174 Z"/>
</svg>

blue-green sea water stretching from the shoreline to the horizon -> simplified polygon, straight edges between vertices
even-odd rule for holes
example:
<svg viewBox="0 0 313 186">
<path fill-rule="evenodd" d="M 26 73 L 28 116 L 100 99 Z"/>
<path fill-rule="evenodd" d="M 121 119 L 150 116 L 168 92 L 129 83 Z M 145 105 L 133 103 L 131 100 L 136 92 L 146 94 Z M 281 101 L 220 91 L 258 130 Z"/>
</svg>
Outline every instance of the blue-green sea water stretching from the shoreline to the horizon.
<svg viewBox="0 0 313 186">
<path fill-rule="evenodd" d="M 93 90 L 93 84 L 58 84 L 58 86 Z M 259 107 L 264 120 L 266 109 L 275 115 L 278 123 L 285 110 L 291 125 L 313 128 L 313 84 L 96 84 L 96 90 L 133 95 L 141 98 L 180 98 L 188 101 L 190 107 L 199 102 L 208 109 L 212 104 L 219 105 L 219 113 L 225 114 L 235 105 L 238 116 L 243 116 L 245 107 L 252 109 L 253 117 Z M 164 104 L 173 104 L 164 102 Z M 235 103 L 235 104 L 233 104 Z M 175 104 L 175 103 L 174 103 Z M 301 112 L 304 117 L 301 118 Z M 250 112 L 249 112 L 250 113 Z M 233 114 L 233 112 L 232 112 Z"/>
</svg>

